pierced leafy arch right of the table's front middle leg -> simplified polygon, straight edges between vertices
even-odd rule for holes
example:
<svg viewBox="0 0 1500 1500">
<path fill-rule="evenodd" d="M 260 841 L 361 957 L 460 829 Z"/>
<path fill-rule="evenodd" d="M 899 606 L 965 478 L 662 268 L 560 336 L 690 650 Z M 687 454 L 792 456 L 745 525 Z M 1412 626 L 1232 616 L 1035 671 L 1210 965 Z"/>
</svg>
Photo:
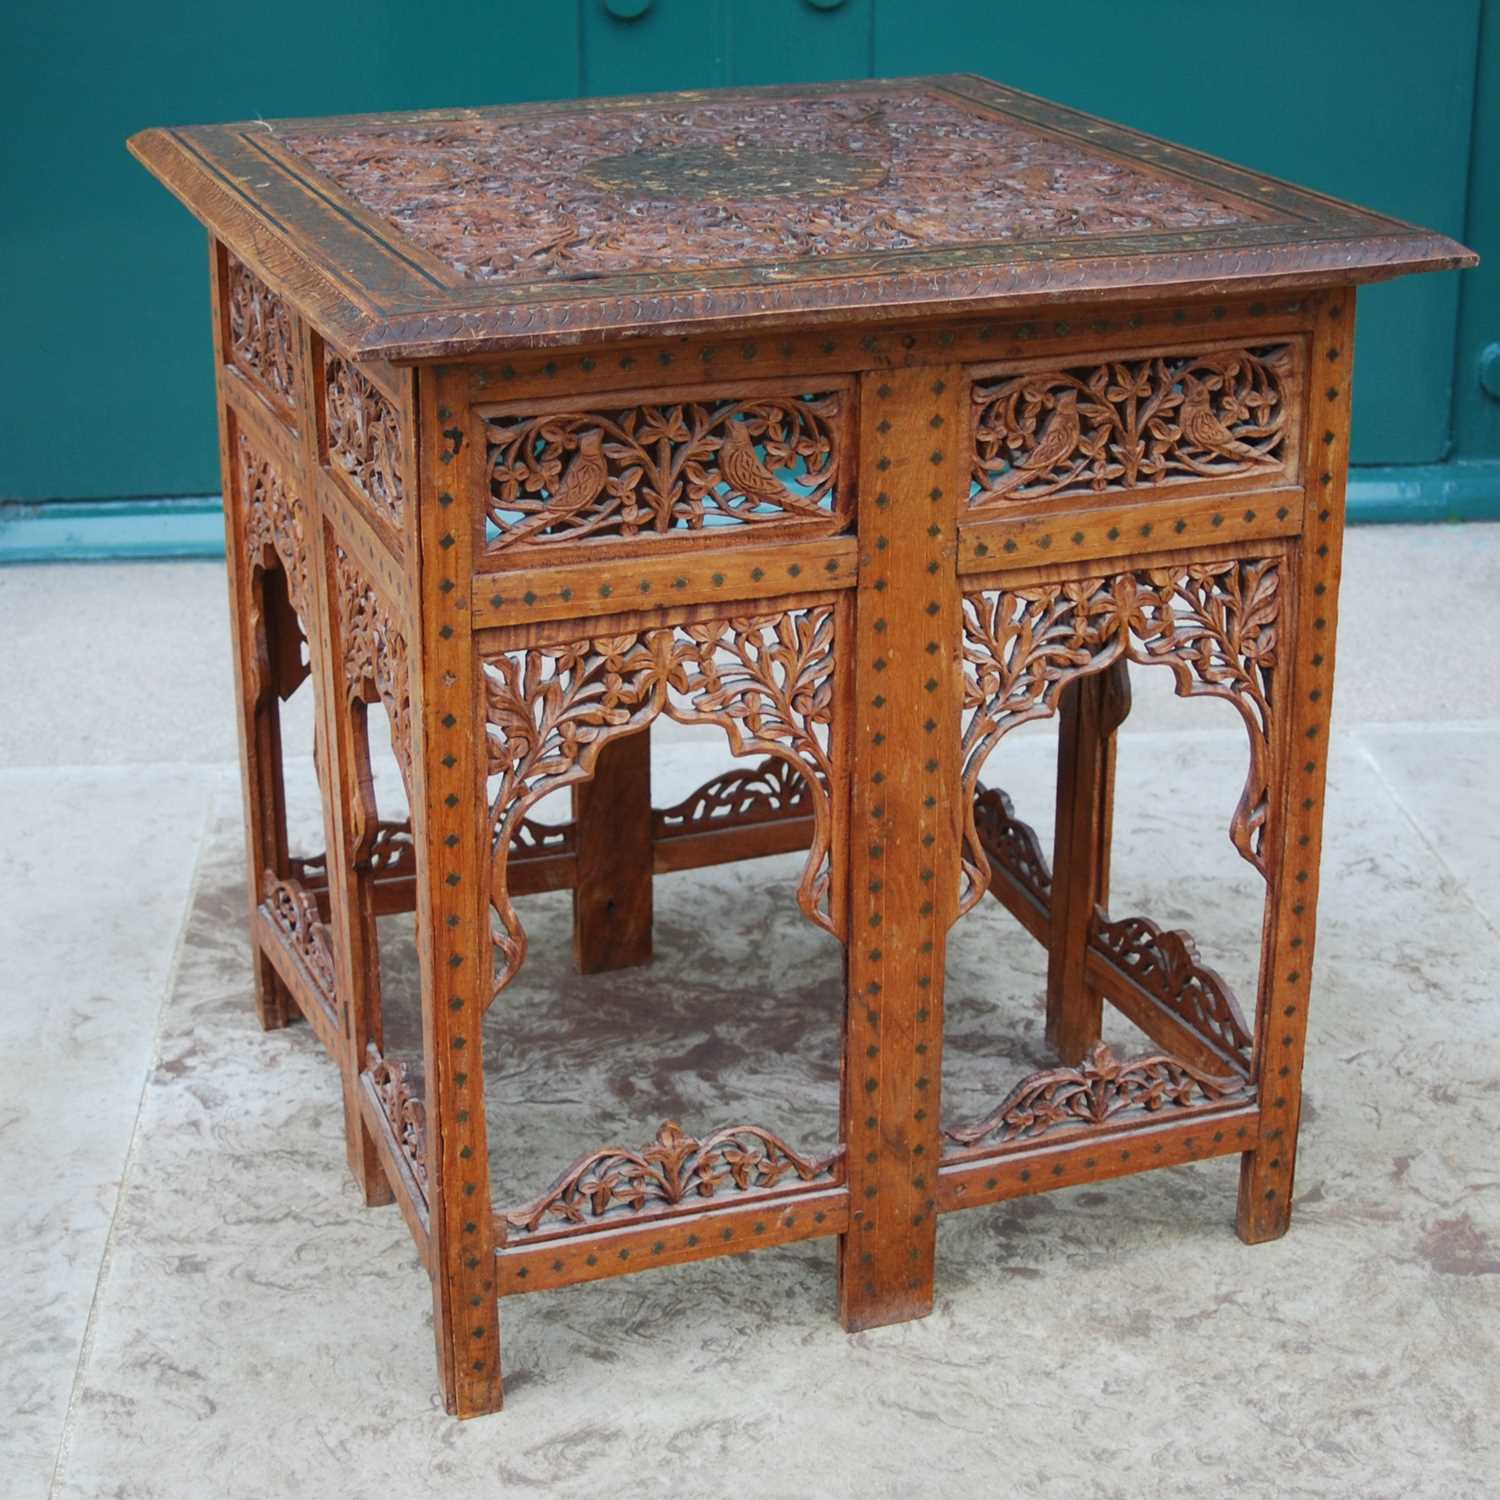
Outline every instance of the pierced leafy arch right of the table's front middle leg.
<svg viewBox="0 0 1500 1500">
<path fill-rule="evenodd" d="M 988 885 L 974 806 L 986 758 L 1017 724 L 1054 714 L 1074 678 L 1120 657 L 1170 668 L 1182 698 L 1222 698 L 1239 711 L 1250 736 L 1250 770 L 1230 842 L 1266 874 L 1280 614 L 1280 558 L 964 594 L 968 830 L 960 910 L 969 910 Z"/>
</svg>

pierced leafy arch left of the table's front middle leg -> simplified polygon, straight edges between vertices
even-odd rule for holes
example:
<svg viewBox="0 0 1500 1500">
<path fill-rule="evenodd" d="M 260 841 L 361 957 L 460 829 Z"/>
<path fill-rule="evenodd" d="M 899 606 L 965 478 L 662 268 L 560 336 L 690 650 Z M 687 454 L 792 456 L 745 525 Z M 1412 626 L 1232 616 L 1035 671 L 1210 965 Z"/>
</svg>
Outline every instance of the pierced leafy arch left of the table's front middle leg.
<svg viewBox="0 0 1500 1500">
<path fill-rule="evenodd" d="M 822 741 L 832 717 L 832 604 L 534 646 L 483 664 L 496 993 L 525 958 L 506 880 L 514 828 L 549 792 L 592 776 L 606 741 L 662 712 L 684 724 L 717 724 L 734 754 L 772 756 L 804 777 L 813 840 L 796 898 L 837 934 L 828 909 L 832 776 Z"/>
</svg>

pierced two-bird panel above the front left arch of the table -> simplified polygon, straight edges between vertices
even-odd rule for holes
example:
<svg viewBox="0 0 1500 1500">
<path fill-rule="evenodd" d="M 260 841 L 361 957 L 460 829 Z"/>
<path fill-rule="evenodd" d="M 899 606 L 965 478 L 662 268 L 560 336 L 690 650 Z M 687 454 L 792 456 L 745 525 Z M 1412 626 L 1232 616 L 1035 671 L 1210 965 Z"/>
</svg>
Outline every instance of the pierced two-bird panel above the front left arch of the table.
<svg viewBox="0 0 1500 1500">
<path fill-rule="evenodd" d="M 546 416 L 488 411 L 489 550 L 710 530 L 843 530 L 846 429 L 844 390 Z"/>
</svg>

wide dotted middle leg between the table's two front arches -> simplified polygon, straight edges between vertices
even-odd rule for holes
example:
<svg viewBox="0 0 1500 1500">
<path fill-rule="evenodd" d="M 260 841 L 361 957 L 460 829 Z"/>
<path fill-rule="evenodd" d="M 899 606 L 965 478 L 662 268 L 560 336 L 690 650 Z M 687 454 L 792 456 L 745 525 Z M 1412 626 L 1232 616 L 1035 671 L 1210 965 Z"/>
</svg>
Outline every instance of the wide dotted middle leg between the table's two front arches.
<svg viewBox="0 0 1500 1500">
<path fill-rule="evenodd" d="M 843 1138 L 846 1329 L 932 1311 L 944 952 L 957 912 L 958 591 L 968 388 L 876 370 L 860 398 Z M 850 657 L 842 654 L 848 670 Z"/>
</svg>

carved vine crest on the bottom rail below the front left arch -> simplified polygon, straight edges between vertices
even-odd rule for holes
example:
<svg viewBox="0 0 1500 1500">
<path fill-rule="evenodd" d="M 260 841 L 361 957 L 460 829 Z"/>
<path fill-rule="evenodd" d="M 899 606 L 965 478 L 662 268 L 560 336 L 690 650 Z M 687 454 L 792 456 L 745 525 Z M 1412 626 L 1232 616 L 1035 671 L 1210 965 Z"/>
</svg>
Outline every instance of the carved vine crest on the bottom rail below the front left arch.
<svg viewBox="0 0 1500 1500">
<path fill-rule="evenodd" d="M 506 1226 L 534 1234 L 549 1221 L 586 1224 L 621 1210 L 678 1208 L 722 1191 L 754 1192 L 788 1178 L 843 1180 L 843 1149 L 810 1158 L 759 1125 L 726 1125 L 696 1140 L 668 1120 L 650 1146 L 608 1146 L 579 1156 L 540 1197 L 504 1215 Z"/>
</svg>

